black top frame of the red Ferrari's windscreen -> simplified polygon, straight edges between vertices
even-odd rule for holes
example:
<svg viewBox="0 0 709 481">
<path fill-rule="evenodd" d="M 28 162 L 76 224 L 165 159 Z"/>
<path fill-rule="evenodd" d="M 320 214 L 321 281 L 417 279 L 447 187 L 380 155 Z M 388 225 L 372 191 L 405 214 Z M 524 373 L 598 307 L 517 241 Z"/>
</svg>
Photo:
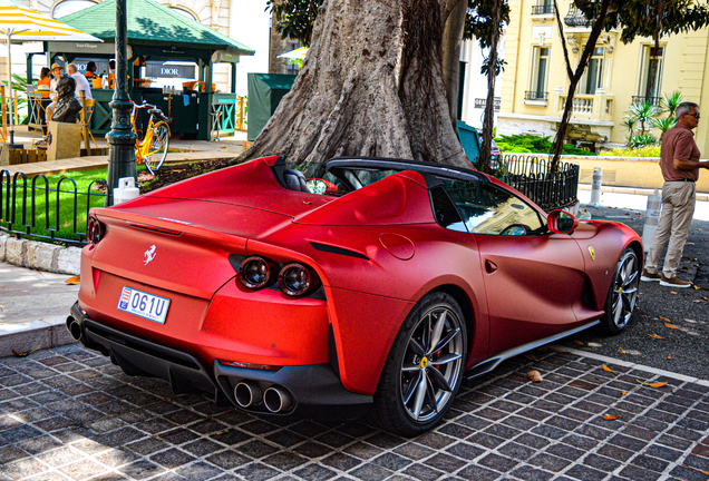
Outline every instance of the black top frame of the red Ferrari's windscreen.
<svg viewBox="0 0 709 481">
<path fill-rule="evenodd" d="M 469 170 L 460 167 L 420 160 L 407 160 L 386 157 L 337 157 L 326 163 L 326 170 L 330 170 L 331 168 L 346 167 L 416 170 L 421 174 L 443 176 L 459 180 L 489 181 L 489 179 L 484 174 L 477 170 Z M 426 176 L 424 177 L 426 178 Z M 428 184 L 428 187 L 433 187 L 433 185 Z"/>
</svg>

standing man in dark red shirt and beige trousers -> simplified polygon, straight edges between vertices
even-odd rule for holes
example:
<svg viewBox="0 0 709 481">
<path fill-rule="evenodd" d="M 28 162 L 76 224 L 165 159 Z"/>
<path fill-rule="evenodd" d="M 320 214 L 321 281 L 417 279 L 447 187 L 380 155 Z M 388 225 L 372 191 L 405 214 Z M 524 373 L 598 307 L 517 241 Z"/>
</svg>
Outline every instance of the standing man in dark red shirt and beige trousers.
<svg viewBox="0 0 709 481">
<path fill-rule="evenodd" d="M 689 235 L 689 227 L 695 215 L 697 194 L 696 181 L 699 169 L 709 169 L 709 160 L 699 161 L 699 148 L 695 141 L 692 129 L 699 124 L 699 106 L 682 102 L 674 110 L 677 126 L 662 136 L 660 168 L 664 185 L 662 186 L 662 213 L 658 222 L 658 230 L 650 243 L 650 252 L 642 269 L 644 282 L 659 281 L 666 287 L 689 287 L 692 283 L 677 277 L 677 269 L 682 258 L 682 249 Z M 662 273 L 658 272 L 658 259 L 670 240 L 664 256 Z"/>
</svg>

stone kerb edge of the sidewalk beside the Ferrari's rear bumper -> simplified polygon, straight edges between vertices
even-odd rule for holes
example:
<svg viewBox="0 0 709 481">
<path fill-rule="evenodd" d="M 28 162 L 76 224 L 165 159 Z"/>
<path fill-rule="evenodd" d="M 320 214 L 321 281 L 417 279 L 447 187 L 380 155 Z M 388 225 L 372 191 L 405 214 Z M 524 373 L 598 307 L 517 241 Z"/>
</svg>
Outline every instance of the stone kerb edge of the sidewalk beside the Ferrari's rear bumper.
<svg viewBox="0 0 709 481">
<path fill-rule="evenodd" d="M 51 317 L 18 324 L 0 324 L 0 357 L 51 349 L 77 341 L 67 330 L 67 317 Z"/>
</svg>

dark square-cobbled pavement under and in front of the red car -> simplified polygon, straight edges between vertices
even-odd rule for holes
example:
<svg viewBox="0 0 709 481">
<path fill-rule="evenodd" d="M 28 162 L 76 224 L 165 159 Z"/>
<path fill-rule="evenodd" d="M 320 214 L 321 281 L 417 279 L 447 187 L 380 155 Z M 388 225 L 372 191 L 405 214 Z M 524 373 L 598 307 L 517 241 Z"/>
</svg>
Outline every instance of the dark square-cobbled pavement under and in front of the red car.
<svg viewBox="0 0 709 481">
<path fill-rule="evenodd" d="M 709 479 L 707 383 L 605 362 L 618 374 L 579 353 L 516 357 L 464 385 L 435 431 L 402 439 L 264 421 L 56 347 L 0 360 L 0 479 Z"/>
</svg>

